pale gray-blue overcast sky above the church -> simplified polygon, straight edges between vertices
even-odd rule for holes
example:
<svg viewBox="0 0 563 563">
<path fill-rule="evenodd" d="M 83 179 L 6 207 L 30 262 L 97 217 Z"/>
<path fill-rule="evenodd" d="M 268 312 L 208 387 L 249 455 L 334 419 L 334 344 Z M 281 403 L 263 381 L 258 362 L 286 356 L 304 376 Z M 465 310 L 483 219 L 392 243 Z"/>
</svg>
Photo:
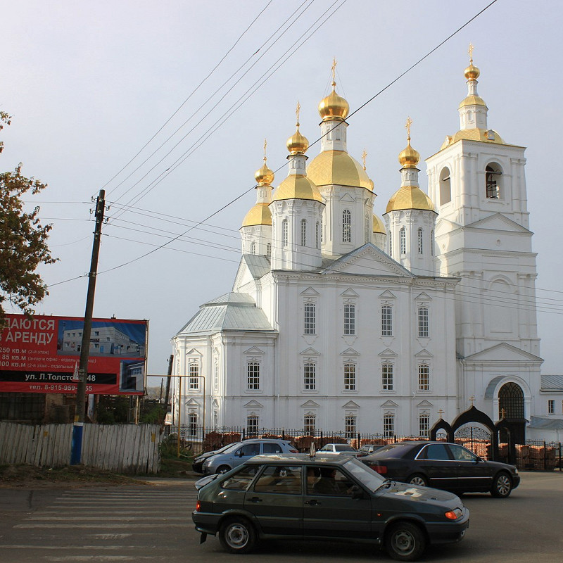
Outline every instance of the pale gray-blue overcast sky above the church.
<svg viewBox="0 0 563 563">
<path fill-rule="evenodd" d="M 333 58 L 336 91 L 350 112 L 362 106 L 348 119 L 348 151 L 360 162 L 367 152 L 381 216 L 400 186 L 407 117 L 423 159 L 459 129 L 472 43 L 489 127 L 527 147 L 542 371 L 561 373 L 563 258 L 551 194 L 560 201 L 552 151 L 563 5 L 497 0 L 396 80 L 489 3 L 4 1 L 0 110 L 12 124 L 0 134 L 0 170 L 22 162 L 25 175 L 49 184 L 25 202 L 53 224 L 58 258 L 39 270 L 49 296 L 36 311 L 84 315 L 93 201 L 105 189 L 94 316 L 149 320 L 149 384 L 159 384 L 172 336 L 232 289 L 264 139 L 276 186 L 298 101 L 308 155 L 320 150 L 317 105 Z"/>
</svg>

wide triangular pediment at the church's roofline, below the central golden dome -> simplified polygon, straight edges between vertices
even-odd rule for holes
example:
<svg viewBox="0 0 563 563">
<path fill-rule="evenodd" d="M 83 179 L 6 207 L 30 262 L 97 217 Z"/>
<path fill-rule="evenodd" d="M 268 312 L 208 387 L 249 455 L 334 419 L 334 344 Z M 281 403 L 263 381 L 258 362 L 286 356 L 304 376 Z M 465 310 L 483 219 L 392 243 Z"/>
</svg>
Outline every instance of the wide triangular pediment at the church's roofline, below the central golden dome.
<svg viewBox="0 0 563 563">
<path fill-rule="evenodd" d="M 366 243 L 360 246 L 360 248 L 356 248 L 354 251 L 334 260 L 321 273 L 324 275 L 339 273 L 399 278 L 415 277 L 409 270 L 372 243 Z"/>
</svg>

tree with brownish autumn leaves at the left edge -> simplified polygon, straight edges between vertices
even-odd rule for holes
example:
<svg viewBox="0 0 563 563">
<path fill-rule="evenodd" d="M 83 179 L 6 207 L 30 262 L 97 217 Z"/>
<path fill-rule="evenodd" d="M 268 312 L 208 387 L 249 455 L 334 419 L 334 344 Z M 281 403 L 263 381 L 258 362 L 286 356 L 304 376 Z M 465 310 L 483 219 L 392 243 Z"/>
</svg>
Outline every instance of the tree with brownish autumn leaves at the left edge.
<svg viewBox="0 0 563 563">
<path fill-rule="evenodd" d="M 10 116 L 0 112 L 0 130 L 10 125 Z M 0 142 L 0 152 L 4 143 Z M 39 264 L 52 264 L 56 258 L 46 244 L 51 224 L 42 225 L 39 207 L 25 213 L 21 197 L 28 191 L 38 194 L 46 188 L 39 180 L 22 175 L 20 163 L 13 172 L 0 173 L 0 328 L 4 325 L 4 303 L 15 305 L 25 315 L 49 294 Z"/>
</svg>

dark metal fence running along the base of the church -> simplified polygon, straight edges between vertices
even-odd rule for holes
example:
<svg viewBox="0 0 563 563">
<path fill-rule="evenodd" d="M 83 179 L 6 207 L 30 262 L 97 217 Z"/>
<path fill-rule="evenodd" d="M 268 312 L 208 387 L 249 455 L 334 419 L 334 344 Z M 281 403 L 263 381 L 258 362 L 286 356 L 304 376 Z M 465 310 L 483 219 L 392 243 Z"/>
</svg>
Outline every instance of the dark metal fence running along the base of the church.
<svg viewBox="0 0 563 563">
<path fill-rule="evenodd" d="M 177 434 L 177 426 L 166 426 L 165 434 L 170 436 Z M 180 439 L 185 448 L 195 452 L 208 452 L 217 450 L 222 446 L 233 442 L 247 440 L 248 438 L 281 438 L 289 440 L 300 452 L 308 452 L 311 444 L 315 443 L 315 448 L 319 450 L 327 443 L 349 443 L 354 448 L 361 448 L 362 445 L 377 444 L 386 445 L 389 443 L 428 440 L 428 436 L 384 436 L 382 434 L 365 434 L 346 431 L 305 431 L 303 429 L 252 429 L 243 426 L 222 426 L 220 428 L 203 429 L 198 424 L 182 424 L 180 426 Z M 473 434 L 466 437 L 456 438 L 456 443 L 464 445 L 469 450 L 483 457 L 483 459 L 493 459 L 493 448 L 491 441 L 483 438 L 476 438 Z M 559 442 L 531 441 L 525 444 L 516 445 L 516 466 L 518 469 L 550 471 L 557 469 L 563 471 L 563 445 Z M 498 448 L 496 461 L 509 462 L 508 444 L 501 443 Z"/>
</svg>

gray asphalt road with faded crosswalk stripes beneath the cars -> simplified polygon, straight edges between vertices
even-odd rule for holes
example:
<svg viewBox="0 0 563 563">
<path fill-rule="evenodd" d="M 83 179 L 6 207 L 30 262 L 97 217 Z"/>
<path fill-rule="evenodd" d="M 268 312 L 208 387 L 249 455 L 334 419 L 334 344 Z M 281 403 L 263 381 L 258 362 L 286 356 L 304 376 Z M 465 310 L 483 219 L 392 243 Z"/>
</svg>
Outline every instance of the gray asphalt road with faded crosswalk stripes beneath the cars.
<svg viewBox="0 0 563 563">
<path fill-rule="evenodd" d="M 561 563 L 563 474 L 523 473 L 507 499 L 464 495 L 471 524 L 461 543 L 431 547 L 424 561 Z M 199 544 L 191 522 L 193 481 L 148 486 L 0 488 L 2 563 L 256 563 L 390 561 L 371 545 L 267 541 L 250 555 Z"/>
</svg>

